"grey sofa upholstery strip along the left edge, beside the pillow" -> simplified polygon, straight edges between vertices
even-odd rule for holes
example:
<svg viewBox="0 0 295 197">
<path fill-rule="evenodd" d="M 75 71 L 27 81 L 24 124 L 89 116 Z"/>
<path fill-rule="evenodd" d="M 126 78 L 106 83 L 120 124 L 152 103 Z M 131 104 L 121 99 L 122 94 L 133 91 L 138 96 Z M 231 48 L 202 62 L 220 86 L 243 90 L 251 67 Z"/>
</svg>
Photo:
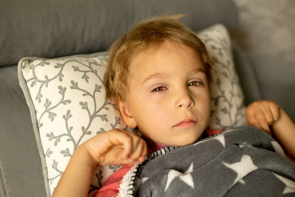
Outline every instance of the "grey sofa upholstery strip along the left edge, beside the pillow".
<svg viewBox="0 0 295 197">
<path fill-rule="evenodd" d="M 17 66 L 0 67 L 0 197 L 45 197 L 29 107 Z"/>
</svg>

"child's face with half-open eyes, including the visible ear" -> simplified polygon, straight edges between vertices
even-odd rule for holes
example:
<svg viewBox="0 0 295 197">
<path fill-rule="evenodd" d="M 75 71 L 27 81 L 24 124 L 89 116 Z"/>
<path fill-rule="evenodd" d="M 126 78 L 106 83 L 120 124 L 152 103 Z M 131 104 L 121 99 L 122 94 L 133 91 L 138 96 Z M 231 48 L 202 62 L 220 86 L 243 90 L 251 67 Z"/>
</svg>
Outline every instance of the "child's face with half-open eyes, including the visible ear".
<svg viewBox="0 0 295 197">
<path fill-rule="evenodd" d="M 201 56 L 190 47 L 164 42 L 130 65 L 129 92 L 119 109 L 124 122 L 155 143 L 194 143 L 210 117 L 210 92 Z M 180 124 L 179 124 L 180 123 Z"/>
</svg>

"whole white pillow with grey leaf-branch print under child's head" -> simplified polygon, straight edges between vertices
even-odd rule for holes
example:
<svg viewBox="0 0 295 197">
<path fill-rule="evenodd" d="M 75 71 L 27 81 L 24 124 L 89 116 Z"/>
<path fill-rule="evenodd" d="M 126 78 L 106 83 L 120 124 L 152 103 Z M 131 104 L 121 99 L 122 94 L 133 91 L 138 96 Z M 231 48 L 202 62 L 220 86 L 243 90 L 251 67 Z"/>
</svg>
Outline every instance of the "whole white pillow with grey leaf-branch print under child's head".
<svg viewBox="0 0 295 197">
<path fill-rule="evenodd" d="M 223 25 L 198 33 L 215 62 L 210 129 L 245 124 L 243 94 L 238 82 L 230 36 Z M 99 132 L 127 129 L 114 103 L 105 99 L 108 53 L 57 59 L 23 58 L 19 80 L 29 105 L 41 157 L 47 195 L 51 196 L 73 151 Z M 119 166 L 98 166 L 89 196 Z"/>
</svg>

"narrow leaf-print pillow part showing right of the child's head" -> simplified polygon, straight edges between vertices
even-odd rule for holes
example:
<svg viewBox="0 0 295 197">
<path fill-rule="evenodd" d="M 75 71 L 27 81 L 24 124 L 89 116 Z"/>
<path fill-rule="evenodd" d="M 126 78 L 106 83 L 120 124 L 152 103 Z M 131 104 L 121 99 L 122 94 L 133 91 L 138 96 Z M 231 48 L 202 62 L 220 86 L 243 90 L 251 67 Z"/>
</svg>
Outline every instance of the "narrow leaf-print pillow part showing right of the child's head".
<svg viewBox="0 0 295 197">
<path fill-rule="evenodd" d="M 226 130 L 246 124 L 245 105 L 233 60 L 231 40 L 223 25 L 198 34 L 214 62 L 211 83 L 210 129 Z"/>
</svg>

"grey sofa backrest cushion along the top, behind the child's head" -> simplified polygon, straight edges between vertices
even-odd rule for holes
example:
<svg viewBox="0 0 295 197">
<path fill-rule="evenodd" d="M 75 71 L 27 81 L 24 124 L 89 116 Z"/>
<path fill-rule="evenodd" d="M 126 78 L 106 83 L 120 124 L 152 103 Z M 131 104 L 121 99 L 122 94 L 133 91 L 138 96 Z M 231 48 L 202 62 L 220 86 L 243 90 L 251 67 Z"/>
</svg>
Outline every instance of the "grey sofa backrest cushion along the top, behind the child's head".
<svg viewBox="0 0 295 197">
<path fill-rule="evenodd" d="M 133 24 L 179 13 L 194 31 L 216 23 L 232 29 L 237 22 L 232 0 L 2 0 L 0 66 L 27 56 L 103 51 Z"/>
</svg>

